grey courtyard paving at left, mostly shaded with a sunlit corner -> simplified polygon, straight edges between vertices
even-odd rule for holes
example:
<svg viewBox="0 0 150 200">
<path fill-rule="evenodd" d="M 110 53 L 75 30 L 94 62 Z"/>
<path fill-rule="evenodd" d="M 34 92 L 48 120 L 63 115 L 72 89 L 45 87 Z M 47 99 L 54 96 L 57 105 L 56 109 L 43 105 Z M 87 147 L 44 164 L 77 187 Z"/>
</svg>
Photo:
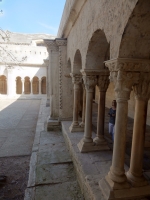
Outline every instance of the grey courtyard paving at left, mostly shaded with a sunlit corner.
<svg viewBox="0 0 150 200">
<path fill-rule="evenodd" d="M 0 99 L 0 157 L 31 155 L 40 102 Z"/>
</svg>

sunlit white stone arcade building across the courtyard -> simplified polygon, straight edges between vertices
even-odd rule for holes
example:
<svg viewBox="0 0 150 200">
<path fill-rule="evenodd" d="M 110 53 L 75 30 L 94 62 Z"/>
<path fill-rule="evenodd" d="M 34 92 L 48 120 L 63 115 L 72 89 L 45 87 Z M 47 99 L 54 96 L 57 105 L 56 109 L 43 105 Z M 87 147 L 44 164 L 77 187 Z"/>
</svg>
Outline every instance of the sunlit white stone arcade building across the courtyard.
<svg viewBox="0 0 150 200">
<path fill-rule="evenodd" d="M 48 52 L 41 43 L 51 35 L 6 32 L 1 38 L 0 97 L 41 96 L 47 93 Z M 3 54 L 2 54 L 3 53 Z M 47 88 L 48 89 L 48 88 Z"/>
</svg>

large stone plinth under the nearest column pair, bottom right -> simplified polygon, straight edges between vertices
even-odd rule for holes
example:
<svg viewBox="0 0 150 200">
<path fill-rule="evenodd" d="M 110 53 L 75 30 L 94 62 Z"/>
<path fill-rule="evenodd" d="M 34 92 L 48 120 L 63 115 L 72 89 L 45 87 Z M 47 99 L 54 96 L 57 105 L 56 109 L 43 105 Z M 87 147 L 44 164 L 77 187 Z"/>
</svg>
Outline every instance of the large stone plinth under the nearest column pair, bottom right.
<svg viewBox="0 0 150 200">
<path fill-rule="evenodd" d="M 117 184 L 119 189 L 114 189 Z M 141 199 L 150 195 L 150 185 L 143 187 L 131 187 L 127 182 L 124 184 L 114 183 L 107 176 L 99 181 L 99 187 L 106 200 L 128 200 Z"/>
</svg>

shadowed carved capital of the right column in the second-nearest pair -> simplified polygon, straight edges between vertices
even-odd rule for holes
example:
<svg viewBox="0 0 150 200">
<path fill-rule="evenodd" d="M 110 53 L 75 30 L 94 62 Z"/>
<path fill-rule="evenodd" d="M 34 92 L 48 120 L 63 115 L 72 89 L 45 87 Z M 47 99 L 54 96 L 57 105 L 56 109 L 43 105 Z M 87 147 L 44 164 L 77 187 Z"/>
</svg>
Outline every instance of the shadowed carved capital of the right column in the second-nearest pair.
<svg viewBox="0 0 150 200">
<path fill-rule="evenodd" d="M 97 86 L 99 88 L 99 91 L 106 92 L 107 88 L 109 86 L 109 76 L 108 75 L 99 75 Z"/>
</svg>

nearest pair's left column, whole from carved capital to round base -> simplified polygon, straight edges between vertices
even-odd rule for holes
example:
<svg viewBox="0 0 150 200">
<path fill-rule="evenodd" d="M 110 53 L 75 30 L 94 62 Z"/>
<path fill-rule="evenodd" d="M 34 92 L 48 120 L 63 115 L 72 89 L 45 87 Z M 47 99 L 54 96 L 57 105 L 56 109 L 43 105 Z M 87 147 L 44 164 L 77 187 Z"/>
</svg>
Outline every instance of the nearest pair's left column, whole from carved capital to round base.
<svg viewBox="0 0 150 200">
<path fill-rule="evenodd" d="M 132 85 L 137 81 L 138 75 L 139 74 L 122 70 L 119 70 L 118 72 L 111 72 L 111 79 L 115 84 L 117 110 L 112 165 L 108 175 L 105 177 L 105 180 L 111 188 L 110 191 L 127 189 L 130 187 L 127 182 L 124 169 L 128 100 L 130 98 Z M 105 185 L 103 179 L 100 181 L 99 185 L 103 190 Z"/>
</svg>

